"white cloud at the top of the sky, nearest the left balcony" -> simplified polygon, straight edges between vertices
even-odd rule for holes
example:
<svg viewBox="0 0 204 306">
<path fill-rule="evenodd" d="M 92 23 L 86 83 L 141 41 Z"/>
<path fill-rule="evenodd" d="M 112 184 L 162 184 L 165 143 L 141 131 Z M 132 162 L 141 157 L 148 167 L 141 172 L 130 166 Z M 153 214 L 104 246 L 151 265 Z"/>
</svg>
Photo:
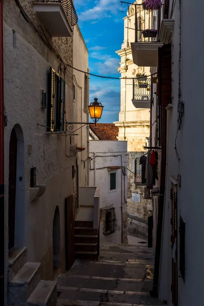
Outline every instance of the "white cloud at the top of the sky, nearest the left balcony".
<svg viewBox="0 0 204 306">
<path fill-rule="evenodd" d="M 79 19 L 85 21 L 111 17 L 110 13 L 116 14 L 119 9 L 118 0 L 99 0 L 96 3 L 93 8 L 82 12 Z"/>
</svg>

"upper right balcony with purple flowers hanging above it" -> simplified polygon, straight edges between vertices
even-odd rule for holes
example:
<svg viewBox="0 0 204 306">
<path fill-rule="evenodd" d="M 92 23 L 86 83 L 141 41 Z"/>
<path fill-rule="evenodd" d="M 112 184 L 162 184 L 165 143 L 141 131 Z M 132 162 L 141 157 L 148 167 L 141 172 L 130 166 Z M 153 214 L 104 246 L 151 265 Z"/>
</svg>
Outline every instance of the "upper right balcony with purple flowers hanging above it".
<svg viewBox="0 0 204 306">
<path fill-rule="evenodd" d="M 137 4 L 135 18 L 135 42 L 131 43 L 133 62 L 138 66 L 157 67 L 161 9 L 149 11 Z"/>
</svg>

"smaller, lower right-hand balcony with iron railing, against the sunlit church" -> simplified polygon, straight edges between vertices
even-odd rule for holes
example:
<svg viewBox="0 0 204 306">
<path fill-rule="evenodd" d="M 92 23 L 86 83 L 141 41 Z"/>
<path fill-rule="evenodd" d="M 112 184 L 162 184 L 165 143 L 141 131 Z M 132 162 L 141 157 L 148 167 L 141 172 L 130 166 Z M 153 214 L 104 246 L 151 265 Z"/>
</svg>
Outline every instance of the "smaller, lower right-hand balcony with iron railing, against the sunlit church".
<svg viewBox="0 0 204 306">
<path fill-rule="evenodd" d="M 150 108 L 151 79 L 133 79 L 133 105 L 136 108 Z"/>
</svg>

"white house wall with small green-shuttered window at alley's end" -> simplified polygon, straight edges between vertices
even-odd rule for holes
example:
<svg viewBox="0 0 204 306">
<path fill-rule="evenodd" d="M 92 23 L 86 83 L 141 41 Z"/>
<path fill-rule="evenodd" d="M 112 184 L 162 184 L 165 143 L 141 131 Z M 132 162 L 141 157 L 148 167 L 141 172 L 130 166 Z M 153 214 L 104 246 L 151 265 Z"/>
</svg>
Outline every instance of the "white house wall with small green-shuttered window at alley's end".
<svg viewBox="0 0 204 306">
<path fill-rule="evenodd" d="M 90 185 L 94 186 L 94 160 L 95 182 L 100 187 L 100 209 L 115 208 L 118 230 L 110 235 L 103 235 L 104 224 L 100 222 L 100 241 L 121 243 L 122 212 L 126 212 L 127 200 L 127 173 L 121 168 L 108 170 L 107 167 L 126 166 L 126 141 L 90 140 Z M 110 173 L 116 173 L 116 189 L 110 190 Z M 123 174 L 125 173 L 125 175 Z"/>
</svg>

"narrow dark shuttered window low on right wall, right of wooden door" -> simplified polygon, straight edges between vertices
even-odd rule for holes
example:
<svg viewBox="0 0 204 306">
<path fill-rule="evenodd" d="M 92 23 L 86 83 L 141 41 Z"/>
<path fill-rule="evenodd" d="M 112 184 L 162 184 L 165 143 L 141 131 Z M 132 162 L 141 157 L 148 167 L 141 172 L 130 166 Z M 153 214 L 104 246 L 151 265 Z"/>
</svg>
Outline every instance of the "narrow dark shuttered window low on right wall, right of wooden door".
<svg viewBox="0 0 204 306">
<path fill-rule="evenodd" d="M 186 223 L 182 216 L 180 216 L 180 272 L 181 276 L 185 282 L 185 230 L 186 230 Z"/>
</svg>

